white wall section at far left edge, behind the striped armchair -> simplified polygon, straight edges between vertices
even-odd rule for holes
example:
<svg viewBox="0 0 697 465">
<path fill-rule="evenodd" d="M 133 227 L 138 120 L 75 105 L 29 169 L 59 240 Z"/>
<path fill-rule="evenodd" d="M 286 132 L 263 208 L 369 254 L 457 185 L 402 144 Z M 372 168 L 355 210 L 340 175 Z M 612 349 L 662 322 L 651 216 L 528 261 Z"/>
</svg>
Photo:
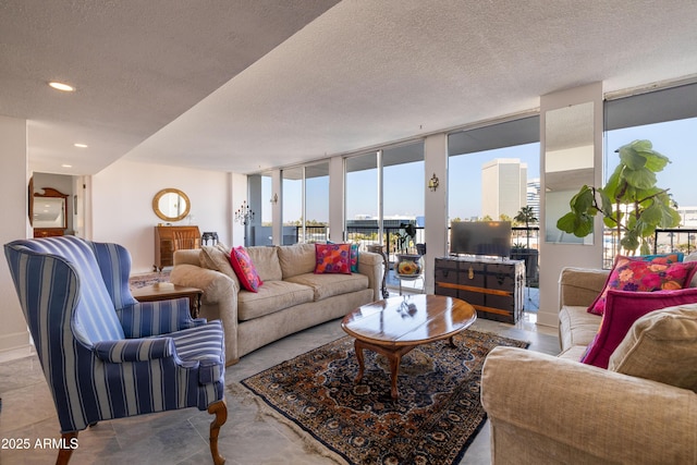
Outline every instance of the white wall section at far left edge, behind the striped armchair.
<svg viewBox="0 0 697 465">
<path fill-rule="evenodd" d="M 2 244 L 26 238 L 32 231 L 27 217 L 29 175 L 26 140 L 26 120 L 0 117 L 0 184 L 5 195 L 0 227 Z M 0 313 L 0 352 L 15 348 L 28 351 L 29 332 L 5 259 L 0 260 L 0 295 L 4 299 Z"/>
</svg>

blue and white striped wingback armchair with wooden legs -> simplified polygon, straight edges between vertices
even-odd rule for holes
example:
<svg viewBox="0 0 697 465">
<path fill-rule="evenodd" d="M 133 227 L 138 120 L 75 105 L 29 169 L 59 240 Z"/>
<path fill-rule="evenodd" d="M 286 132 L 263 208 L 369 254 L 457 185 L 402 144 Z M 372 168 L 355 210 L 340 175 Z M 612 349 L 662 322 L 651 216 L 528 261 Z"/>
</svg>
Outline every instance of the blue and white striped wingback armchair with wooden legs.
<svg viewBox="0 0 697 465">
<path fill-rule="evenodd" d="M 12 279 L 61 426 L 68 463 L 77 432 L 101 420 L 207 409 L 213 463 L 228 417 L 220 321 L 192 319 L 186 298 L 138 303 L 131 256 L 74 236 L 4 246 Z"/>
</svg>

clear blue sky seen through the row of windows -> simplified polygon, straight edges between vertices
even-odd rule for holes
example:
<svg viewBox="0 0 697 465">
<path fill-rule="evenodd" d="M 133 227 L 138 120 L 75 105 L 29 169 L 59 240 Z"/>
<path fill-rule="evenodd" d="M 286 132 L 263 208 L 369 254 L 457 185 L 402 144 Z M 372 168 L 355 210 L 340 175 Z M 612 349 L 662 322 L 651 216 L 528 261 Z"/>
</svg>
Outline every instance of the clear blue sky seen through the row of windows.
<svg viewBox="0 0 697 465">
<path fill-rule="evenodd" d="M 607 171 L 612 172 L 617 163 L 614 150 L 635 139 L 649 139 L 653 148 L 672 161 L 665 170 L 658 173 L 658 185 L 670 188 L 680 206 L 697 206 L 697 188 L 694 180 L 697 174 L 697 119 L 671 121 L 667 123 L 635 126 L 606 133 Z M 450 157 L 449 160 L 449 216 L 469 218 L 481 215 L 481 166 L 494 158 L 518 158 L 527 163 L 528 179 L 539 178 L 539 144 L 477 154 Z M 414 162 L 392 166 L 384 170 L 384 216 L 424 215 L 424 163 Z M 328 183 L 308 180 L 307 218 L 328 221 Z M 270 197 L 265 192 L 265 197 Z M 377 216 L 377 174 L 376 170 L 353 172 L 347 180 L 350 199 L 346 217 L 356 215 Z M 290 194 L 290 198 L 289 198 Z M 268 212 L 267 212 L 268 211 Z M 284 219 L 301 218 L 301 183 L 293 183 L 284 201 Z M 268 218 L 267 218 L 268 216 Z M 264 221 L 271 221 L 270 209 L 266 209 Z"/>
</svg>

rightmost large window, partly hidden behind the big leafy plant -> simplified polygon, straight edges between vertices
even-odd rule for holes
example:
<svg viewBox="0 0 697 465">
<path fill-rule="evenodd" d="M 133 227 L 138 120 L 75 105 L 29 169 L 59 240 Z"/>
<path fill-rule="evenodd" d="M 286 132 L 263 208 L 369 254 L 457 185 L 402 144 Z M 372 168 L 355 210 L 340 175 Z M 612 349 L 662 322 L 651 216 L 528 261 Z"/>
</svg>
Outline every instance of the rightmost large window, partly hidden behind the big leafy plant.
<svg viewBox="0 0 697 465">
<path fill-rule="evenodd" d="M 637 139 L 648 139 L 669 163 L 657 173 L 657 185 L 668 188 L 682 222 L 661 232 L 652 244 L 657 252 L 694 252 L 697 240 L 697 189 L 694 187 L 694 147 L 697 146 L 697 84 L 609 99 L 604 107 L 604 178 L 619 164 L 615 150 Z M 603 237 L 604 265 L 619 252 L 612 230 Z"/>
</svg>

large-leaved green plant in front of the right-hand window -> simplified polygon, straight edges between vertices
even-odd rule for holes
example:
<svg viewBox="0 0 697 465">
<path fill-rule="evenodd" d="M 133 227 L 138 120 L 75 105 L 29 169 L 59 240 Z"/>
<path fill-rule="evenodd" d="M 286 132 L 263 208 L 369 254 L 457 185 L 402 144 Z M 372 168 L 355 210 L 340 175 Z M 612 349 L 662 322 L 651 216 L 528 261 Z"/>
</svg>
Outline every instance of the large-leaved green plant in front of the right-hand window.
<svg viewBox="0 0 697 465">
<path fill-rule="evenodd" d="M 584 237 L 592 232 L 594 217 L 600 213 L 604 224 L 616 230 L 622 248 L 636 252 L 640 247 L 641 254 L 649 254 L 647 240 L 657 229 L 680 224 L 668 189 L 656 186 L 656 173 L 670 160 L 653 150 L 649 140 L 634 140 L 616 151 L 620 164 L 604 187 L 583 186 L 557 228 Z"/>
</svg>

